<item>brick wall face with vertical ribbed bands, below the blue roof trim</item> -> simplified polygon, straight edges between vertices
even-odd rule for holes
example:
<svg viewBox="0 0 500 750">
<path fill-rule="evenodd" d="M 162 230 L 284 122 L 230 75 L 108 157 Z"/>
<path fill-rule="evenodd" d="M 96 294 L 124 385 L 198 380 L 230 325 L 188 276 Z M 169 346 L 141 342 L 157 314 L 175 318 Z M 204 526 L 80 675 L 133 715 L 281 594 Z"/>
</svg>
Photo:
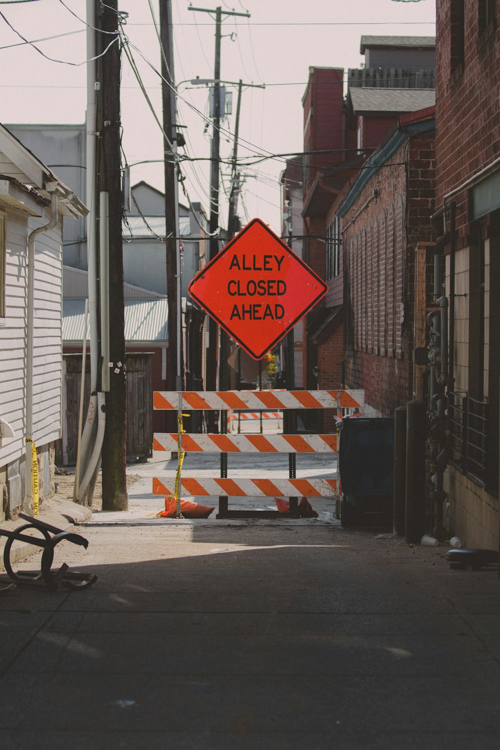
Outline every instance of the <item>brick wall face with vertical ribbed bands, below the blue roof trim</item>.
<svg viewBox="0 0 500 750">
<path fill-rule="evenodd" d="M 345 382 L 388 416 L 412 398 L 414 259 L 432 239 L 433 149 L 433 135 L 409 137 L 343 218 Z"/>
</svg>

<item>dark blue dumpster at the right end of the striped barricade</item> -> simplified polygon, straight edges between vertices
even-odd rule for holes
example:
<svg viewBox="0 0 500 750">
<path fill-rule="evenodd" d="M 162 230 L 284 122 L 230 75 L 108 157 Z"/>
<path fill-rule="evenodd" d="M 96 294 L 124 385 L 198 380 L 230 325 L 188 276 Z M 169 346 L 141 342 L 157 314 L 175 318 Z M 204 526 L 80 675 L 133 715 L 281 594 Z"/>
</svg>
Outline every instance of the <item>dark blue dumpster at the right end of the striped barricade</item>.
<svg viewBox="0 0 500 750">
<path fill-rule="evenodd" d="M 394 418 L 345 417 L 340 430 L 343 526 L 392 531 L 394 504 Z"/>
</svg>

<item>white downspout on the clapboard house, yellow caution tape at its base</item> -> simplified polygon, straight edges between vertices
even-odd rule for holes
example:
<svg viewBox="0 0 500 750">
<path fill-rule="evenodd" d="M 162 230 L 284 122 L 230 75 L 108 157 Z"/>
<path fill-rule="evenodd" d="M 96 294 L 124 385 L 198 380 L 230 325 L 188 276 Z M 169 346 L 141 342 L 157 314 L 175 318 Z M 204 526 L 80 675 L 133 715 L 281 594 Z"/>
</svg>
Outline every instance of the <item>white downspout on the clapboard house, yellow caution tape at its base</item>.
<svg viewBox="0 0 500 750">
<path fill-rule="evenodd" d="M 25 491 L 22 510 L 29 515 L 33 510 L 33 356 L 34 356 L 34 239 L 49 232 L 57 223 L 57 182 L 50 182 L 50 221 L 33 229 L 28 237 L 28 279 L 26 288 L 26 386 L 25 386 Z"/>
</svg>

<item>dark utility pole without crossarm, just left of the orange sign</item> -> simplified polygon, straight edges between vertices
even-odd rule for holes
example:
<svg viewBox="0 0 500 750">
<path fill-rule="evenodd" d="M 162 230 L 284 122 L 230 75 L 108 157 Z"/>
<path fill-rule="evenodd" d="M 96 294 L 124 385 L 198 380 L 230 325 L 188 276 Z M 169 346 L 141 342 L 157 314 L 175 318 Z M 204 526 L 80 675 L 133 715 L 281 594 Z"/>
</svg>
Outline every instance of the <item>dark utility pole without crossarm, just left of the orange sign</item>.
<svg viewBox="0 0 500 750">
<path fill-rule="evenodd" d="M 182 356 L 181 264 L 178 221 L 177 123 L 175 104 L 174 53 L 172 36 L 172 2 L 160 0 L 160 43 L 162 47 L 161 73 L 163 97 L 163 148 L 165 154 L 165 234 L 166 234 L 166 294 L 169 306 L 169 362 L 166 371 L 166 390 L 183 388 L 184 362 Z M 167 83 L 168 82 L 168 83 Z M 177 419 L 172 413 L 170 431 L 177 430 Z"/>
</svg>

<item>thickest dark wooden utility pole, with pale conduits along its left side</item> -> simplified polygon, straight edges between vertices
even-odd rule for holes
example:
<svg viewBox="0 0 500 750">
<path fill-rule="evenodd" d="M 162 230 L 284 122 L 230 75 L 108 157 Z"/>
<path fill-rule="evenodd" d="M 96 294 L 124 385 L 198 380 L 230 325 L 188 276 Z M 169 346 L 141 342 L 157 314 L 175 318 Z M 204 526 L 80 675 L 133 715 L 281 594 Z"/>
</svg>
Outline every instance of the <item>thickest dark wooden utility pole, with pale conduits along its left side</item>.
<svg viewBox="0 0 500 750">
<path fill-rule="evenodd" d="M 123 293 L 123 244 L 121 239 L 121 163 L 120 163 L 120 45 L 118 40 L 118 0 L 100 6 L 97 26 L 105 32 L 97 35 L 102 53 L 112 36 L 117 40 L 99 58 L 100 107 L 97 130 L 100 133 L 97 160 L 99 193 L 109 202 L 108 233 L 100 216 L 100 234 L 109 235 L 109 360 L 112 362 L 109 392 L 106 395 L 106 431 L 104 433 L 103 510 L 128 508 L 127 477 L 127 374 L 125 371 L 125 323 Z M 103 248 L 100 248 L 100 252 Z M 102 266 L 101 266 L 102 268 Z M 102 281 L 102 273 L 101 273 Z M 102 358 L 102 353 L 101 353 Z M 104 363 L 106 366 L 108 363 Z M 98 390 L 103 389 L 101 386 Z"/>
</svg>

